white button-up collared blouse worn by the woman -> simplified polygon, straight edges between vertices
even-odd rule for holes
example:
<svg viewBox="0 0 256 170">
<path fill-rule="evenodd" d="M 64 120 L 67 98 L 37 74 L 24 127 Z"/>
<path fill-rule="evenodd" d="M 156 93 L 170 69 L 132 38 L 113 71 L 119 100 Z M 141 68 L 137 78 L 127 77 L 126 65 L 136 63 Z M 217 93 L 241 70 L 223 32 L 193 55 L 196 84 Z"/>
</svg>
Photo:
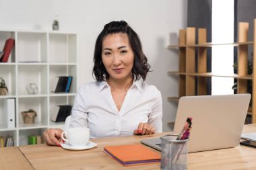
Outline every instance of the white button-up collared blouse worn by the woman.
<svg viewBox="0 0 256 170">
<path fill-rule="evenodd" d="M 162 97 L 154 85 L 133 81 L 120 112 L 105 82 L 92 82 L 79 88 L 69 128 L 88 127 L 90 138 L 132 135 L 140 122 L 162 132 Z"/>
</svg>

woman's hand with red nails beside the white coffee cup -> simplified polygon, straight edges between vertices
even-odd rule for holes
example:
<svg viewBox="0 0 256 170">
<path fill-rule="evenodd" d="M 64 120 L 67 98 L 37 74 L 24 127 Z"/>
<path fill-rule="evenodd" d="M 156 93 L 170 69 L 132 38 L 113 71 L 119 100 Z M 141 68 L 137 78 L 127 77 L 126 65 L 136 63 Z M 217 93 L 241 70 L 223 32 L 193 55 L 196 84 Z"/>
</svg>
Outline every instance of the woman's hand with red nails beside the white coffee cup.
<svg viewBox="0 0 256 170">
<path fill-rule="evenodd" d="M 62 132 L 61 129 L 47 129 L 44 131 L 44 140 L 47 144 L 61 146 L 59 140 Z"/>
</svg>

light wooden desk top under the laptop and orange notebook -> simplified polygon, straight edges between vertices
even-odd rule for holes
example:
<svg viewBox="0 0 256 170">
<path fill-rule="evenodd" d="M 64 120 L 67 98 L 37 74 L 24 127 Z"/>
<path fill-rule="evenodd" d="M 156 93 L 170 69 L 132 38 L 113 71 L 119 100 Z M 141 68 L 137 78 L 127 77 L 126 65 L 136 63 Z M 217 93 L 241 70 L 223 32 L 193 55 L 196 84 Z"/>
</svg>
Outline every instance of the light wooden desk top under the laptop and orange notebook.
<svg viewBox="0 0 256 170">
<path fill-rule="evenodd" d="M 245 126 L 243 132 L 256 132 L 256 125 Z M 123 167 L 103 153 L 103 147 L 106 145 L 135 144 L 142 138 L 160 135 L 96 139 L 92 141 L 98 143 L 98 146 L 87 151 L 67 151 L 45 144 L 19 148 L 34 169 L 160 169 L 160 163 Z M 9 153 L 0 151 L 1 155 L 9 155 Z M 189 153 L 188 157 L 188 169 L 256 169 L 256 148 L 247 146 Z"/>
</svg>

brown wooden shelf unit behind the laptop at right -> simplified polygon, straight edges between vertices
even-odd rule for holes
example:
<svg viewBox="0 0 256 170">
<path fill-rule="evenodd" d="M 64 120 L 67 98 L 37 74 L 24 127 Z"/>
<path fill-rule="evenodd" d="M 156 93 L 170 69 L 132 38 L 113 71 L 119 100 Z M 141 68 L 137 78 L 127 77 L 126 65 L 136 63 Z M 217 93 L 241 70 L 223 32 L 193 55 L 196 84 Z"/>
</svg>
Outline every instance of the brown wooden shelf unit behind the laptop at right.
<svg viewBox="0 0 256 170">
<path fill-rule="evenodd" d="M 253 52 L 253 74 L 248 75 L 248 46 L 253 45 L 256 50 L 256 19 L 254 19 L 253 41 L 248 41 L 249 24 L 238 24 L 238 42 L 212 43 L 207 42 L 206 29 L 199 28 L 198 43 L 195 42 L 195 28 L 179 30 L 179 44 L 168 46 L 169 49 L 179 49 L 179 71 L 168 71 L 168 75 L 179 76 L 179 97 L 187 95 L 206 95 L 207 77 L 232 77 L 237 79 L 237 93 L 248 93 L 248 80 L 253 81 L 252 86 L 252 123 L 256 123 L 256 52 Z M 207 48 L 212 46 L 237 46 L 238 73 L 232 75 L 216 75 L 207 73 Z M 197 52 L 197 56 L 196 55 Z M 195 57 L 197 57 L 197 71 L 195 69 Z M 195 86 L 197 81 L 197 87 Z M 197 90 L 196 90 L 197 88 Z M 195 93 L 197 91 L 197 93 Z M 170 100 L 179 101 L 179 97 L 168 97 Z"/>
</svg>

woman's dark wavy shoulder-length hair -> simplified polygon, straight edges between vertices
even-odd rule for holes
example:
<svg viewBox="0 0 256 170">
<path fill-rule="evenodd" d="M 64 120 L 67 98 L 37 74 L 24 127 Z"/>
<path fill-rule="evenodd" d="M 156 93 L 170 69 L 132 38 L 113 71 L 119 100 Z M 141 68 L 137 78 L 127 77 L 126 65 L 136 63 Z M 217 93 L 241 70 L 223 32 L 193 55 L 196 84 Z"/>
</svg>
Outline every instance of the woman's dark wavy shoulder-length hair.
<svg viewBox="0 0 256 170">
<path fill-rule="evenodd" d="M 98 35 L 94 49 L 94 68 L 93 75 L 96 81 L 106 81 L 109 78 L 109 74 L 102 62 L 102 42 L 105 36 L 108 34 L 123 33 L 127 34 L 129 38 L 129 44 L 134 54 L 132 74 L 135 77 L 135 81 L 142 77 L 145 81 L 148 72 L 150 71 L 150 65 L 148 64 L 148 58 L 145 56 L 142 50 L 139 36 L 125 21 L 110 22 L 104 26 L 104 29 Z"/>
</svg>

